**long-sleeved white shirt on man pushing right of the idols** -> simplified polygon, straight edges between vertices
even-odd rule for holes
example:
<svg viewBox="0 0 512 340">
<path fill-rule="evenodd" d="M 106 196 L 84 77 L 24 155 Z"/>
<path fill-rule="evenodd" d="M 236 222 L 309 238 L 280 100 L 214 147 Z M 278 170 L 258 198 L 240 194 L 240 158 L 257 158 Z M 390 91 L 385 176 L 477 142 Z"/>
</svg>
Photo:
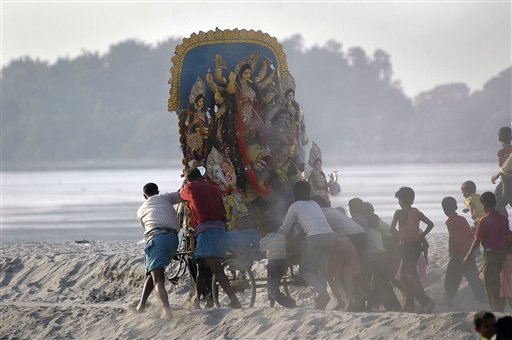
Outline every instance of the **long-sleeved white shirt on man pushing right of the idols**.
<svg viewBox="0 0 512 340">
<path fill-rule="evenodd" d="M 315 201 L 297 201 L 293 203 L 288 208 L 283 224 L 277 232 L 283 235 L 288 234 L 294 223 L 300 224 L 306 237 L 332 233 L 327 218 L 325 218 L 322 209 Z"/>
</svg>

